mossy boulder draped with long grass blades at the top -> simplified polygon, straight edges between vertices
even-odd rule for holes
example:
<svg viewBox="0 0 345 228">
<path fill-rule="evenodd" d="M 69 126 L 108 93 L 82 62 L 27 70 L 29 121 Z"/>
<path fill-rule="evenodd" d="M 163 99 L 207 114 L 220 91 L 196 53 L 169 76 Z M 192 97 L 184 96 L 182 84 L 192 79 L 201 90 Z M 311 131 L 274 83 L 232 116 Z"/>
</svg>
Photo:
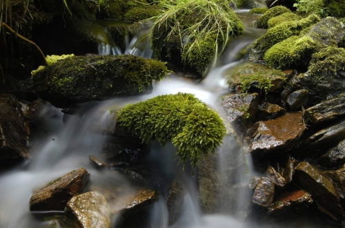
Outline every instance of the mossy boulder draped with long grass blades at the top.
<svg viewBox="0 0 345 228">
<path fill-rule="evenodd" d="M 181 1 L 157 17 L 152 48 L 159 59 L 202 77 L 228 39 L 242 31 L 242 22 L 226 1 Z"/>
</svg>

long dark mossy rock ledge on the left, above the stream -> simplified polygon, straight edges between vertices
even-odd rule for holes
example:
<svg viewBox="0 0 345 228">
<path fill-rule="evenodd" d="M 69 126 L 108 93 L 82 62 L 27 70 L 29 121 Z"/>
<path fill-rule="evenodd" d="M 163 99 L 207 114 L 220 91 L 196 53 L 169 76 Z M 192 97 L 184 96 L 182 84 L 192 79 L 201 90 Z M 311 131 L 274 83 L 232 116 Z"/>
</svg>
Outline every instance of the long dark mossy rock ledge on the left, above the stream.
<svg viewBox="0 0 345 228">
<path fill-rule="evenodd" d="M 92 99 L 137 95 L 168 74 L 164 62 L 132 55 L 75 56 L 46 66 L 32 76 L 34 89 L 55 106 Z"/>
</svg>

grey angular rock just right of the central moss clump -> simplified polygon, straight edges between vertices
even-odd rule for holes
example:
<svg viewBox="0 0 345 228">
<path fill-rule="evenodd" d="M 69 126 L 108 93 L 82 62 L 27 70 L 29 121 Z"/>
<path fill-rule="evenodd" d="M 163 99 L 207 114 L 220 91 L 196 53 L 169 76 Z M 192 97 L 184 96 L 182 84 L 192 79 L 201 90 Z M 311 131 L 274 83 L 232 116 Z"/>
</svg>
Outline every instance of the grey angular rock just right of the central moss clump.
<svg viewBox="0 0 345 228">
<path fill-rule="evenodd" d="M 226 95 L 221 100 L 221 105 L 226 111 L 226 120 L 237 126 L 240 131 L 255 118 L 258 104 L 258 93 Z"/>
</svg>

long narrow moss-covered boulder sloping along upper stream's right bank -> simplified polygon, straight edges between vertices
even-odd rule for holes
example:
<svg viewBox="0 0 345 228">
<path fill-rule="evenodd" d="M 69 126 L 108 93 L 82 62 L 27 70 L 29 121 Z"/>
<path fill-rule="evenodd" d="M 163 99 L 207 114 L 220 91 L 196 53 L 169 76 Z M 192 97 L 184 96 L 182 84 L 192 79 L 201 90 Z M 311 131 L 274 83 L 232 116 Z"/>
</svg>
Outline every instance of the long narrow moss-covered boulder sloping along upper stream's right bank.
<svg viewBox="0 0 345 228">
<path fill-rule="evenodd" d="M 307 32 L 305 29 L 319 20 L 317 15 L 310 15 L 299 21 L 286 21 L 268 29 L 266 34 L 259 37 L 251 46 L 250 59 L 262 59 L 269 48 L 288 37 Z"/>
</svg>

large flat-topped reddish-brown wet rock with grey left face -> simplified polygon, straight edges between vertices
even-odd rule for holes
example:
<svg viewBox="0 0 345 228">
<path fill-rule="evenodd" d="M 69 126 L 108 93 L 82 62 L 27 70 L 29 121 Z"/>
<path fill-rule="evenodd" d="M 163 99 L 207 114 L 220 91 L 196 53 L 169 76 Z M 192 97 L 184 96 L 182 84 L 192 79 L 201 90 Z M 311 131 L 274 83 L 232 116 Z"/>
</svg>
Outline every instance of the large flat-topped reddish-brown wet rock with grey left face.
<svg viewBox="0 0 345 228">
<path fill-rule="evenodd" d="M 302 113 L 286 113 L 275 120 L 255 123 L 248 140 L 250 153 L 274 152 L 293 149 L 294 143 L 301 137 L 306 126 L 302 122 Z"/>
</svg>

